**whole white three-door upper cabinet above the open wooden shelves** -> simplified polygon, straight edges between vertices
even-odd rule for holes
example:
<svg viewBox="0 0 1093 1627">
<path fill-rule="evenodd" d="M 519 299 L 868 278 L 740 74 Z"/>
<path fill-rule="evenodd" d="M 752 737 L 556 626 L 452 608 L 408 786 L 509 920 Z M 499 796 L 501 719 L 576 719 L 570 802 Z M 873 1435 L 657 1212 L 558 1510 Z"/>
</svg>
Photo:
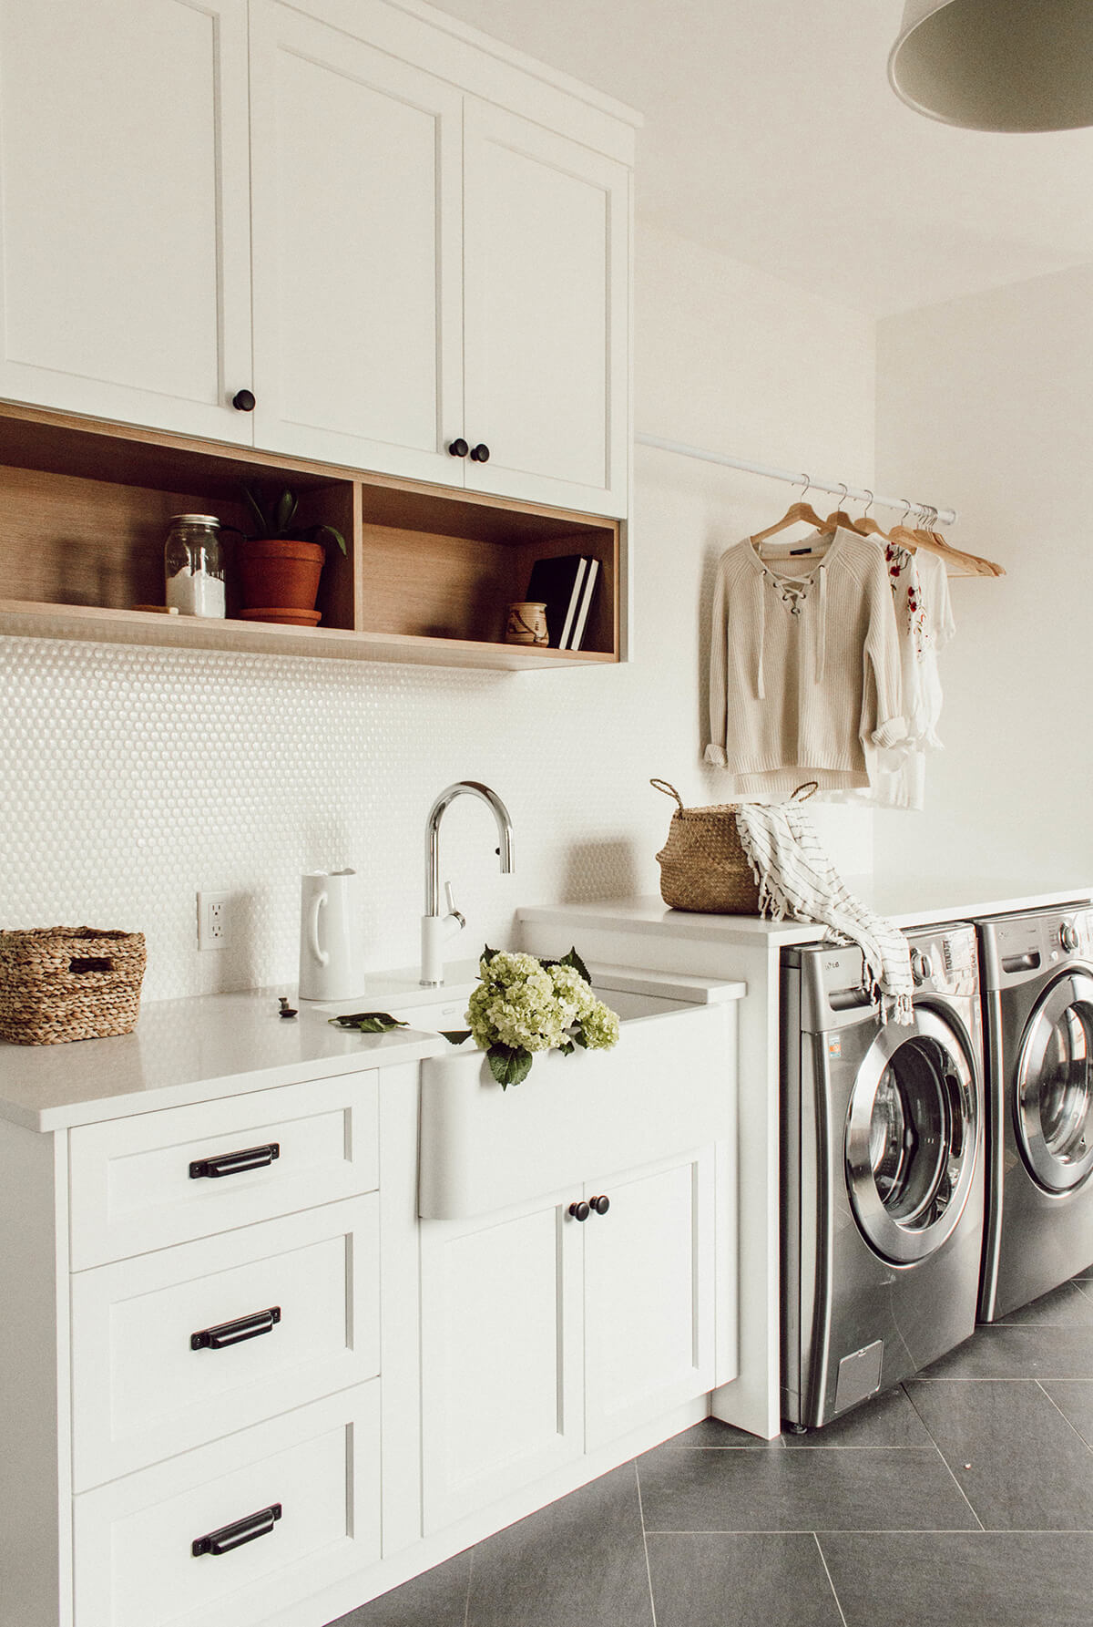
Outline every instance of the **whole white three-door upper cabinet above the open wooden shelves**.
<svg viewBox="0 0 1093 1627">
<path fill-rule="evenodd" d="M 633 124 L 420 0 L 0 0 L 0 394 L 623 516 Z"/>
</svg>

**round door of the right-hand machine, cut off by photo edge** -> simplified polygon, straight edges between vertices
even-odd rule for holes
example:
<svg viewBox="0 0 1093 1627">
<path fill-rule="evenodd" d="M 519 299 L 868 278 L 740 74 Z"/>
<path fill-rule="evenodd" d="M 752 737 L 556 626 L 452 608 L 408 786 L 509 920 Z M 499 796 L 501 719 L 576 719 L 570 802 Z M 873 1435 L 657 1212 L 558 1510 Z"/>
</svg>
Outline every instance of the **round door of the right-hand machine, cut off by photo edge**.
<svg viewBox="0 0 1093 1627">
<path fill-rule="evenodd" d="M 1025 1028 L 1013 1101 L 1033 1178 L 1069 1193 L 1093 1173 L 1093 978 L 1069 973 L 1044 992 Z"/>
</svg>

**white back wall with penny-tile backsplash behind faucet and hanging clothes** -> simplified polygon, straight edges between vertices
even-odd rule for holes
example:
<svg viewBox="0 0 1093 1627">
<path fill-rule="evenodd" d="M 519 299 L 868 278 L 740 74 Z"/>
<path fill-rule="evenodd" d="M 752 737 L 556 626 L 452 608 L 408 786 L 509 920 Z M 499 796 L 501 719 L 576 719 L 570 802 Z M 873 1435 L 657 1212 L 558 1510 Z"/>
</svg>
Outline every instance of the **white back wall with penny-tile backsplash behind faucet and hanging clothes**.
<svg viewBox="0 0 1093 1627">
<path fill-rule="evenodd" d="M 865 317 L 678 239 L 639 231 L 636 421 L 651 433 L 870 483 Z M 442 830 L 470 929 L 517 903 L 655 893 L 672 804 L 722 800 L 701 766 L 708 591 L 717 555 L 792 491 L 639 449 L 633 662 L 475 674 L 366 662 L 0 639 L 0 926 L 148 936 L 148 997 L 293 981 L 299 872 L 366 879 L 372 968 L 416 958 L 423 827 L 449 781 L 494 786 L 512 877 L 475 800 Z M 872 818 L 820 814 L 869 869 Z M 237 893 L 231 950 L 198 953 L 198 887 Z M 566 949 L 568 945 L 558 945 Z"/>
</svg>

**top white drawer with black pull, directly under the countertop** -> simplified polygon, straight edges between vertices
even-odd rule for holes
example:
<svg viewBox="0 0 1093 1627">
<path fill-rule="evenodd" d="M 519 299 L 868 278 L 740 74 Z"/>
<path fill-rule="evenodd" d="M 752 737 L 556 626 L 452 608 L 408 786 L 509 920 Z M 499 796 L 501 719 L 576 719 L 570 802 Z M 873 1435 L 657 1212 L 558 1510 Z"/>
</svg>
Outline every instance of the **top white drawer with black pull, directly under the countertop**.
<svg viewBox="0 0 1093 1627">
<path fill-rule="evenodd" d="M 72 1269 L 372 1191 L 376 1126 L 374 1071 L 83 1124 Z"/>
</svg>

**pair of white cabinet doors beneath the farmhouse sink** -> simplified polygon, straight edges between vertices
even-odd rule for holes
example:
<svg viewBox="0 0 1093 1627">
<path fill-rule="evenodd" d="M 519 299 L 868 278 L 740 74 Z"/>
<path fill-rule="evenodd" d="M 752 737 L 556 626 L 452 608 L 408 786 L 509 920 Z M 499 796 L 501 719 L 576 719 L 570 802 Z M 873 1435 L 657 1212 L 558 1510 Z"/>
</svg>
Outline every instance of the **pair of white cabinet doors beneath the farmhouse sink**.
<svg viewBox="0 0 1093 1627">
<path fill-rule="evenodd" d="M 714 1163 L 421 1222 L 426 1534 L 712 1388 Z"/>
</svg>

